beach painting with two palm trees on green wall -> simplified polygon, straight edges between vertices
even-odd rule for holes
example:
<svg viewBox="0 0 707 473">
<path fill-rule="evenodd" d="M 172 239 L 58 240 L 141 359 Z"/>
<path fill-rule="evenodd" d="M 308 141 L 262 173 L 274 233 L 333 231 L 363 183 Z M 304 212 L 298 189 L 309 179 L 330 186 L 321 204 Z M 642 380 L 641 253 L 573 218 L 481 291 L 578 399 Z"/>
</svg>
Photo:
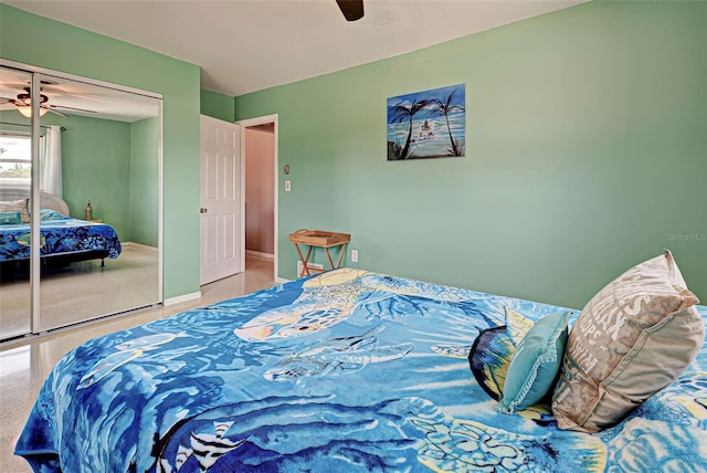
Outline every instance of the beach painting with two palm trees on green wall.
<svg viewBox="0 0 707 473">
<path fill-rule="evenodd" d="M 465 84 L 388 98 L 388 160 L 464 156 Z"/>
</svg>

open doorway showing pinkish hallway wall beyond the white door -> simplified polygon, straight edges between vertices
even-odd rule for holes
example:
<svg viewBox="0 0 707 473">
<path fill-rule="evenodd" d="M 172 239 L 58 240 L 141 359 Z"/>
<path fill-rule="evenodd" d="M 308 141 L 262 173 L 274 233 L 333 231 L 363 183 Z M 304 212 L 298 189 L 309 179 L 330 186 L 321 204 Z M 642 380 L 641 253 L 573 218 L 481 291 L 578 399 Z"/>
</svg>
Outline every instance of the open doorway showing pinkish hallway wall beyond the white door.
<svg viewBox="0 0 707 473">
<path fill-rule="evenodd" d="M 267 261 L 276 273 L 277 120 L 239 122 L 244 162 L 244 241 L 250 260 Z"/>
</svg>

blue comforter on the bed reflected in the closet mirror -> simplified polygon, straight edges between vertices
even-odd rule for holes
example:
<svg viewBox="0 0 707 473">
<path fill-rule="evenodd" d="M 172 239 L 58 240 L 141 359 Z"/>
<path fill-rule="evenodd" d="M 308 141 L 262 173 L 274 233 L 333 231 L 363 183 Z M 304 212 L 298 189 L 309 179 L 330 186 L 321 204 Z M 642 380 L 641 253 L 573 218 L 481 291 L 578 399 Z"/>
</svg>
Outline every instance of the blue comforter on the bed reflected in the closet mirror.
<svg viewBox="0 0 707 473">
<path fill-rule="evenodd" d="M 40 256 L 76 254 L 99 250 L 118 257 L 123 248 L 110 225 L 72 219 L 42 209 L 40 220 Z M 29 260 L 31 231 L 28 223 L 0 225 L 0 262 Z"/>
</svg>

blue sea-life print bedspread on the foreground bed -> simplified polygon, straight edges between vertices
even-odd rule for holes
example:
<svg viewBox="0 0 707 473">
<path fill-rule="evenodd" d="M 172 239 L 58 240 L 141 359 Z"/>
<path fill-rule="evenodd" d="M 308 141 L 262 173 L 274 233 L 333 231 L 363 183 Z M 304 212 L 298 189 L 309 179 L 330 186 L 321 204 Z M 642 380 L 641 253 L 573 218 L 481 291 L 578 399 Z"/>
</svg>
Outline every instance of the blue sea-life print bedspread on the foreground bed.
<svg viewBox="0 0 707 473">
<path fill-rule="evenodd" d="M 558 430 L 544 404 L 496 411 L 498 360 L 560 309 L 323 273 L 75 348 L 15 452 L 36 472 L 705 471 L 705 349 L 598 434 Z"/>
</svg>

